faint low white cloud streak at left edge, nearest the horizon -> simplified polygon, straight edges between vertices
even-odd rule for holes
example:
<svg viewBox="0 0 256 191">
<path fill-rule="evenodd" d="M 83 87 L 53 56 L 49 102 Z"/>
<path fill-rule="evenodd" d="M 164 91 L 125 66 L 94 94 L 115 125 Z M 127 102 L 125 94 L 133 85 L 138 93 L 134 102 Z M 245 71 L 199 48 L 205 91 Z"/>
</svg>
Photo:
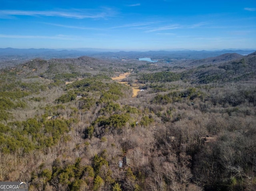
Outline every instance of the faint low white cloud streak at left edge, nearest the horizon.
<svg viewBox="0 0 256 191">
<path fill-rule="evenodd" d="M 62 39 L 62 40 L 74 40 L 75 37 L 68 35 L 54 35 L 54 36 L 42 36 L 42 35 L 8 35 L 0 34 L 0 38 L 20 38 L 20 39 Z"/>
</svg>

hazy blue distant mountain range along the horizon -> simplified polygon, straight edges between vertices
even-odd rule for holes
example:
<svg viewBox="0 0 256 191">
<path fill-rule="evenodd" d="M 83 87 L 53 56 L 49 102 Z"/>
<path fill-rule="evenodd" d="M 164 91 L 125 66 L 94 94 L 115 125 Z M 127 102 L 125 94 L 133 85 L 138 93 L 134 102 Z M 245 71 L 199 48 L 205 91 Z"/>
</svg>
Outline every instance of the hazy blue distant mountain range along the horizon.
<svg viewBox="0 0 256 191">
<path fill-rule="evenodd" d="M 216 57 L 225 53 L 237 53 L 248 55 L 256 50 L 216 50 L 216 51 L 117 51 L 106 49 L 15 49 L 0 48 L 0 59 L 32 59 L 40 57 L 43 59 L 51 58 L 75 58 L 83 55 L 98 58 L 119 58 L 119 59 L 138 59 L 139 57 L 152 57 L 153 59 L 204 59 Z"/>
</svg>

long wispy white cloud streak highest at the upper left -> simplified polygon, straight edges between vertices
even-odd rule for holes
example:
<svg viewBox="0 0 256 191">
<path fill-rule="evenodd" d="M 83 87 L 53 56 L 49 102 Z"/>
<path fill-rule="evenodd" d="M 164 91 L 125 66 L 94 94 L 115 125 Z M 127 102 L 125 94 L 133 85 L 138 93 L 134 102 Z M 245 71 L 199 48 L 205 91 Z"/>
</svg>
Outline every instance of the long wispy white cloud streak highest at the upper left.
<svg viewBox="0 0 256 191">
<path fill-rule="evenodd" d="M 0 10 L 0 17 L 8 16 L 55 16 L 64 18 L 84 19 L 84 18 L 106 18 L 113 16 L 111 9 L 103 10 L 62 10 L 62 11 L 24 11 L 24 10 Z"/>
</svg>

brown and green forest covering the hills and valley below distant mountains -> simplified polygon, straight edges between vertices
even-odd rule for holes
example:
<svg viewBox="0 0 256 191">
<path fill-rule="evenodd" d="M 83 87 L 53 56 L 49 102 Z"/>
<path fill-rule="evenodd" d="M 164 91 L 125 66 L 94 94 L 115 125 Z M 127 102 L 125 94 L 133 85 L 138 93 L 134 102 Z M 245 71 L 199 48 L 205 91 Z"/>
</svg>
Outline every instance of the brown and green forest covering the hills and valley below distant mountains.
<svg viewBox="0 0 256 191">
<path fill-rule="evenodd" d="M 33 59 L 0 74 L 0 181 L 30 191 L 256 190 L 256 52 Z"/>
</svg>

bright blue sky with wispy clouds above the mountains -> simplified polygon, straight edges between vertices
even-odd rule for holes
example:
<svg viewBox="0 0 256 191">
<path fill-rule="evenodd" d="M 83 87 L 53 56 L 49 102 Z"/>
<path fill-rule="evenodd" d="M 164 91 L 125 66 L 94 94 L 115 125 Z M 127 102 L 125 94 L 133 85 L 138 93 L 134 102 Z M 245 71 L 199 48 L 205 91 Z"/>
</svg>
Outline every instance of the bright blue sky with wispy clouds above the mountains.
<svg viewBox="0 0 256 191">
<path fill-rule="evenodd" d="M 0 47 L 256 49 L 256 0 L 3 0 Z"/>
</svg>

